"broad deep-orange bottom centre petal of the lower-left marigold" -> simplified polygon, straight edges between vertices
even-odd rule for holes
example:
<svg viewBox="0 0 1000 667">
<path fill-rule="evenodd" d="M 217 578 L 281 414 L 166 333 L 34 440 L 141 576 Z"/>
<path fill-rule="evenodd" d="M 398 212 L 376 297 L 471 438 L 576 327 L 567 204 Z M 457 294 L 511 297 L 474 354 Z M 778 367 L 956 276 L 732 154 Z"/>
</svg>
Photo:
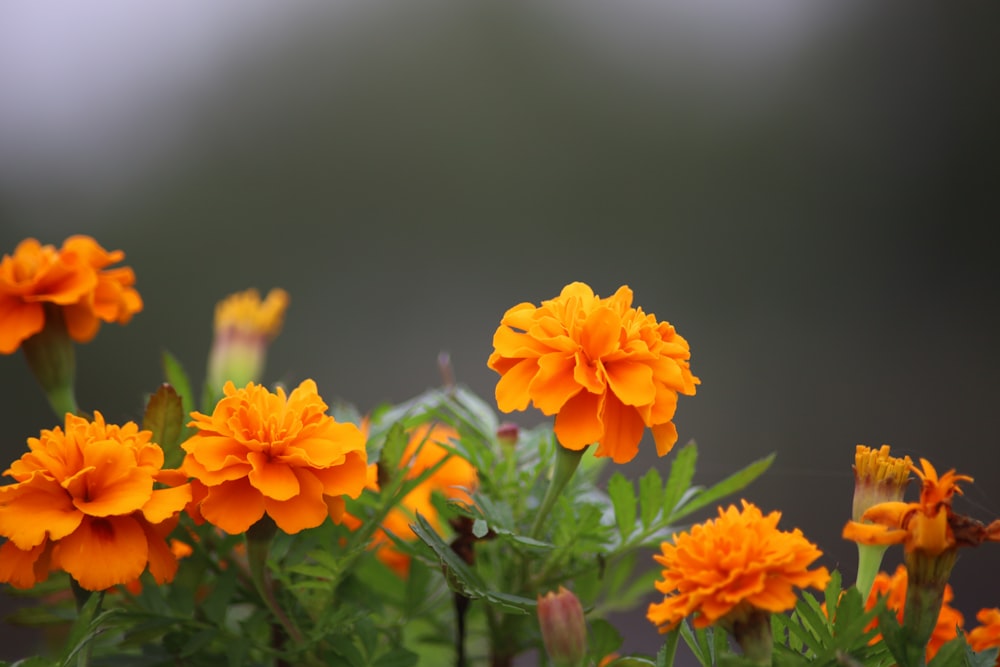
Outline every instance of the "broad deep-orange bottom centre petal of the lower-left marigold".
<svg viewBox="0 0 1000 667">
<path fill-rule="evenodd" d="M 142 574 L 149 547 L 139 522 L 130 516 L 86 517 L 59 541 L 53 559 L 82 588 L 101 591 Z"/>
</svg>

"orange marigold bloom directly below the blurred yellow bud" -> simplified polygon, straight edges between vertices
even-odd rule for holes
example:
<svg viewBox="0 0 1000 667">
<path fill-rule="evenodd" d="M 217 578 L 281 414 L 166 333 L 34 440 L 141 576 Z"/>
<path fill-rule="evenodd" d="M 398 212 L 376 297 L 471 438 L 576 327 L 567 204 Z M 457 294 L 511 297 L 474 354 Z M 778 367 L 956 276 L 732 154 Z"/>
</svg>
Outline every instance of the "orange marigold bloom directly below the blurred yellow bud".
<svg viewBox="0 0 1000 667">
<path fill-rule="evenodd" d="M 198 432 L 181 445 L 181 468 L 205 487 L 198 511 L 230 534 L 266 512 L 286 533 L 339 517 L 342 496 L 365 486 L 365 438 L 326 414 L 316 383 L 291 394 L 227 382 L 211 415 L 192 412 Z"/>
</svg>

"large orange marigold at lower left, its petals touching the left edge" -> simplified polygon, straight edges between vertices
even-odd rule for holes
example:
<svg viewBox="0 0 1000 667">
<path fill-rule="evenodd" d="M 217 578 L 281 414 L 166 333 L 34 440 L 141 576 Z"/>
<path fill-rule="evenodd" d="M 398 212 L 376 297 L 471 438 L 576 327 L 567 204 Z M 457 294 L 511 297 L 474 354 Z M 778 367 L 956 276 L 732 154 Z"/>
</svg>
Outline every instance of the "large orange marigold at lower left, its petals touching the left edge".
<svg viewBox="0 0 1000 667">
<path fill-rule="evenodd" d="M 30 588 L 50 569 L 68 572 L 81 587 L 104 590 L 136 579 L 147 568 L 170 581 L 177 559 L 166 537 L 191 498 L 187 484 L 170 482 L 163 450 L 132 422 L 106 424 L 66 415 L 29 438 L 30 451 L 0 487 L 0 581 Z"/>
</svg>

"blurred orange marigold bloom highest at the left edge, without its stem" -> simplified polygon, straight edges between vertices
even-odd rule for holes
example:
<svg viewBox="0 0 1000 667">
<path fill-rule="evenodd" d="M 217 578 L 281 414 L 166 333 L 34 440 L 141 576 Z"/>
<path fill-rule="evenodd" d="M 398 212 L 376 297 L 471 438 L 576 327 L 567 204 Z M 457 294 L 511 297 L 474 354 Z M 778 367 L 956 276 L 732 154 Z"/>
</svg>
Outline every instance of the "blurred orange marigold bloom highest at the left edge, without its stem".
<svg viewBox="0 0 1000 667">
<path fill-rule="evenodd" d="M 107 267 L 124 259 L 89 236 L 72 236 L 58 250 L 35 239 L 0 259 L 0 354 L 15 352 L 45 327 L 45 305 L 58 308 L 73 340 L 86 343 L 100 323 L 125 324 L 142 310 L 128 267 Z"/>
</svg>

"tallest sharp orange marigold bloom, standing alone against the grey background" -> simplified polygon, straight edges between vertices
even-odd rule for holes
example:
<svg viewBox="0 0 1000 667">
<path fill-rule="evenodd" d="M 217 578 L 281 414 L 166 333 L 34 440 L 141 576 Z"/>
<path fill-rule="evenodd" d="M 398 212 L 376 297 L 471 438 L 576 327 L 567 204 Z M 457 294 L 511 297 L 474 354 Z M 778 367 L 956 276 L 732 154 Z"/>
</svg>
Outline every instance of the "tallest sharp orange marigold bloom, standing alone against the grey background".
<svg viewBox="0 0 1000 667">
<path fill-rule="evenodd" d="M 584 283 L 567 285 L 541 306 L 508 310 L 493 335 L 488 365 L 500 374 L 497 405 L 504 412 L 533 404 L 555 415 L 567 449 L 596 442 L 596 456 L 632 460 L 648 426 L 656 451 L 677 441 L 678 393 L 693 395 L 688 343 L 667 322 L 632 307 L 622 286 L 600 298 Z"/>
</svg>

